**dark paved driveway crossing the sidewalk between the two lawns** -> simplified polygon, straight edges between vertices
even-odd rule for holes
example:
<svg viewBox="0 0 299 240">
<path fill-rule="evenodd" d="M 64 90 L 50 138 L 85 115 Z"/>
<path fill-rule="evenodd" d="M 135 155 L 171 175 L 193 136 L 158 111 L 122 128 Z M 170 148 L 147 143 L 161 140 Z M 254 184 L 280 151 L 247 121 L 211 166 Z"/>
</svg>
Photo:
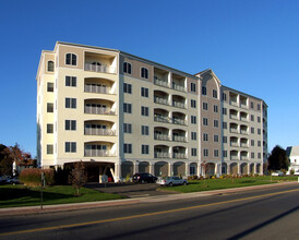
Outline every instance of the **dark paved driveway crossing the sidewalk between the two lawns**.
<svg viewBox="0 0 299 240">
<path fill-rule="evenodd" d="M 142 197 L 142 196 L 153 196 L 153 195 L 175 194 L 166 191 L 163 191 L 163 192 L 156 191 L 156 189 L 159 187 L 156 183 L 146 183 L 146 184 L 107 183 L 106 188 L 104 183 L 87 183 L 85 187 L 98 190 L 100 192 L 123 195 L 130 199 Z"/>
</svg>

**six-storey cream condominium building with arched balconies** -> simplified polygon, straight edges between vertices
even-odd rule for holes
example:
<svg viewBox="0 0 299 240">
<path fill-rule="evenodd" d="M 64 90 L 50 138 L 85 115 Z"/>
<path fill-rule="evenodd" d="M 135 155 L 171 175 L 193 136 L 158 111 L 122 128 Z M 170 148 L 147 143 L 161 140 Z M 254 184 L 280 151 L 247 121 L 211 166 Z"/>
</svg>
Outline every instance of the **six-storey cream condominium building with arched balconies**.
<svg viewBox="0 0 299 240">
<path fill-rule="evenodd" d="M 263 173 L 267 106 L 195 75 L 123 51 L 57 43 L 37 72 L 37 159 L 84 161 L 88 180 Z M 204 168 L 208 165 L 207 168 Z"/>
</svg>

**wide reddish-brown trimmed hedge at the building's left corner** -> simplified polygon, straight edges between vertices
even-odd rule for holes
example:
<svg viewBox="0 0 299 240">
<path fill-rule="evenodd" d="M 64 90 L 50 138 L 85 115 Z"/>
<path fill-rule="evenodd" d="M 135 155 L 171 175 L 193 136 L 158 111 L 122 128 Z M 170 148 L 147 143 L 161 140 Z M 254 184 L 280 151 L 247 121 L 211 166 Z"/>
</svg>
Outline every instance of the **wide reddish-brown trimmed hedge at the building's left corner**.
<svg viewBox="0 0 299 240">
<path fill-rule="evenodd" d="M 41 184 L 41 172 L 45 173 L 46 185 L 55 183 L 53 169 L 25 168 L 20 173 L 20 182 L 29 187 L 38 187 Z"/>
</svg>

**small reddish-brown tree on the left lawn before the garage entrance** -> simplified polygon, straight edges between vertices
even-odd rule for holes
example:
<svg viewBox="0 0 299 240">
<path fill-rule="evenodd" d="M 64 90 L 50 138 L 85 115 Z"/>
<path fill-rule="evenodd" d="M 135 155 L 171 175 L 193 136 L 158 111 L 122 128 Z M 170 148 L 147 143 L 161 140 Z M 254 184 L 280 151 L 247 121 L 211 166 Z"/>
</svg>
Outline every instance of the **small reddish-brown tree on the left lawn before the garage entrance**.
<svg viewBox="0 0 299 240">
<path fill-rule="evenodd" d="M 80 189 L 87 181 L 84 163 L 77 161 L 71 171 L 71 183 L 76 189 L 76 195 L 80 195 Z"/>
</svg>

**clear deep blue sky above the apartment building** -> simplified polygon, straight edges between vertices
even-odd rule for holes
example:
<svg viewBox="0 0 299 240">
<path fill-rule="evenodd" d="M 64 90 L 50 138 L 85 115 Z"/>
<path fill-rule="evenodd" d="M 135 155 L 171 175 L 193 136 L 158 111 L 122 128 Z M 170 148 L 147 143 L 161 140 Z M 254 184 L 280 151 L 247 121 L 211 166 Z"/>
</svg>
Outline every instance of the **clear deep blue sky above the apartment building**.
<svg viewBox="0 0 299 240">
<path fill-rule="evenodd" d="M 268 105 L 268 149 L 299 145 L 297 0 L 1 0 L 0 143 L 36 154 L 36 71 L 57 40 L 120 49 Z"/>
</svg>

